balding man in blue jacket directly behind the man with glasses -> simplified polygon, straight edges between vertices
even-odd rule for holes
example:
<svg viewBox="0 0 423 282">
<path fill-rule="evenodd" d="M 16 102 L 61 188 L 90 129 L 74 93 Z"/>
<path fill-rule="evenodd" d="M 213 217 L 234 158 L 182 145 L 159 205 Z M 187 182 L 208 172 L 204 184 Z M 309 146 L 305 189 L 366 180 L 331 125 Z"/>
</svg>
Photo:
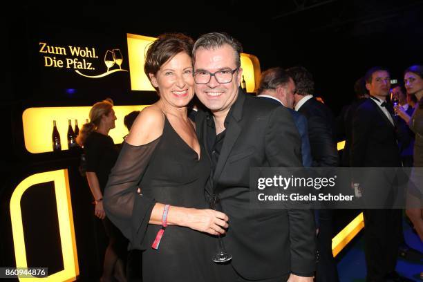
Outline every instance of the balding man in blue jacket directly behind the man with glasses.
<svg viewBox="0 0 423 282">
<path fill-rule="evenodd" d="M 303 156 L 303 167 L 311 167 L 312 157 L 310 141 L 308 140 L 308 126 L 306 118 L 294 111 L 294 80 L 289 77 L 283 68 L 270 68 L 261 74 L 259 93 L 261 97 L 269 102 L 285 106 L 294 118 L 301 137 L 301 153 Z"/>
</svg>

